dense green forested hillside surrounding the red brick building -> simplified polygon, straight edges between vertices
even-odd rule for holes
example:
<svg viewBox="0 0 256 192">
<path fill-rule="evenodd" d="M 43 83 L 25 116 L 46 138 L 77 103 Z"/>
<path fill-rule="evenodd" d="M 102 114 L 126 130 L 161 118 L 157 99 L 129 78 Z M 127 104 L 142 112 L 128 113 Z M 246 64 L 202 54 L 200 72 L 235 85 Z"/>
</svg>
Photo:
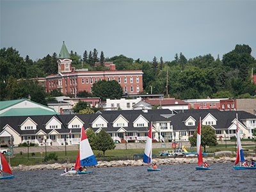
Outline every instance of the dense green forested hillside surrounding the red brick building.
<svg viewBox="0 0 256 192">
<path fill-rule="evenodd" d="M 102 70 L 102 66 L 95 68 L 94 63 L 113 61 L 117 70 L 141 69 L 144 73 L 144 93 L 151 93 L 152 90 L 152 93 L 166 95 L 168 82 L 168 95 L 177 99 L 252 98 L 256 95 L 256 85 L 252 83 L 252 68 L 256 70 L 256 60 L 251 52 L 249 45 L 236 45 L 234 50 L 223 55 L 222 60 L 214 60 L 211 54 L 187 59 L 181 52 L 173 55 L 173 61 L 164 61 L 156 56 L 152 56 L 152 61 L 134 60 L 124 55 L 104 58 L 102 51 L 98 58 L 96 49 L 89 54 L 84 51 L 83 56 L 71 51 L 70 57 L 72 66 L 76 68 Z M 45 104 L 44 98 L 51 95 L 45 94 L 41 86 L 26 79 L 56 74 L 57 60 L 56 53 L 33 61 L 29 56 L 20 57 L 19 51 L 12 47 L 1 49 L 0 99 L 20 99 L 29 95 L 31 100 Z"/>
</svg>

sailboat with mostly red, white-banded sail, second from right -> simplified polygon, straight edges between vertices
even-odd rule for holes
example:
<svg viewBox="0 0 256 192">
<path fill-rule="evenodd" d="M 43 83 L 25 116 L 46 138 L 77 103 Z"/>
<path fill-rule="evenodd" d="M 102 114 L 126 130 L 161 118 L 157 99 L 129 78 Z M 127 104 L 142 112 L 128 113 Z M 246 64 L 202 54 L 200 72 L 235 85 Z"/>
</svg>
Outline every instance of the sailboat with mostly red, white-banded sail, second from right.
<svg viewBox="0 0 256 192">
<path fill-rule="evenodd" d="M 210 170 L 209 167 L 204 167 L 202 164 L 203 155 L 202 155 L 202 148 L 201 148 L 201 116 L 199 118 L 198 127 L 197 127 L 197 135 L 196 135 L 196 152 L 197 152 L 197 159 L 198 159 L 198 166 L 196 166 L 196 170 Z"/>
</svg>

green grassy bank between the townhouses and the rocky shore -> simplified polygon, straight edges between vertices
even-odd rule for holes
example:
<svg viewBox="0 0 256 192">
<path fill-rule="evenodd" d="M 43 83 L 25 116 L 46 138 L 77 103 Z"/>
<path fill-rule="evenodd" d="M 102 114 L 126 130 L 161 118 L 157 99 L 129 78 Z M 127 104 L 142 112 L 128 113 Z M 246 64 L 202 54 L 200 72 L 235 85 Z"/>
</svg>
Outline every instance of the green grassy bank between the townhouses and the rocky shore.
<svg viewBox="0 0 256 192">
<path fill-rule="evenodd" d="M 226 148 L 227 147 L 227 148 Z M 243 145 L 244 156 L 248 152 L 253 153 L 255 156 L 255 146 L 253 145 Z M 160 151 L 163 150 L 172 150 L 172 148 L 156 148 L 153 149 L 153 154 L 158 156 Z M 187 149 L 189 150 L 189 149 Z M 196 148 L 193 148 L 195 151 Z M 236 148 L 234 145 L 218 145 L 216 147 L 207 147 L 207 153 L 214 153 L 223 150 L 228 150 L 235 152 Z M 127 159 L 134 159 L 134 154 L 143 154 L 143 148 L 137 149 L 115 149 L 115 150 L 107 150 L 105 152 L 105 157 L 103 157 L 102 151 L 93 150 L 95 156 L 97 157 L 98 161 L 111 161 L 111 160 L 127 160 Z M 51 159 L 49 157 L 58 157 L 58 160 Z M 67 151 L 67 162 L 68 163 L 75 163 L 77 156 L 77 150 L 74 151 Z M 235 154 L 233 155 L 235 156 Z M 6 160 L 8 161 L 8 156 L 5 156 Z M 65 151 L 60 152 L 47 152 L 47 161 L 45 162 L 45 152 L 40 154 L 40 152 L 36 153 L 23 153 L 23 154 L 15 154 L 13 157 L 10 157 L 10 163 L 12 166 L 18 166 L 19 164 L 24 165 L 33 165 L 33 164 L 47 164 L 47 163 L 65 163 L 66 155 Z M 141 158 L 140 156 L 136 156 L 137 158 Z"/>
</svg>

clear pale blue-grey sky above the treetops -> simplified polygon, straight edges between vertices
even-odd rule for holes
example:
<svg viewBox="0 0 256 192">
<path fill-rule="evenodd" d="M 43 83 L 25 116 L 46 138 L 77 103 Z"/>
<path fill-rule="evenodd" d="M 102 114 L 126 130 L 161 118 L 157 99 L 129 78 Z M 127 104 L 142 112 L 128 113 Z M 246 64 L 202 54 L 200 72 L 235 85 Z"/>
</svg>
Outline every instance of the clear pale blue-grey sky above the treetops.
<svg viewBox="0 0 256 192">
<path fill-rule="evenodd" d="M 256 0 L 0 0 L 0 45 L 36 61 L 97 49 L 111 58 L 174 60 L 252 48 L 256 58 Z"/>
</svg>

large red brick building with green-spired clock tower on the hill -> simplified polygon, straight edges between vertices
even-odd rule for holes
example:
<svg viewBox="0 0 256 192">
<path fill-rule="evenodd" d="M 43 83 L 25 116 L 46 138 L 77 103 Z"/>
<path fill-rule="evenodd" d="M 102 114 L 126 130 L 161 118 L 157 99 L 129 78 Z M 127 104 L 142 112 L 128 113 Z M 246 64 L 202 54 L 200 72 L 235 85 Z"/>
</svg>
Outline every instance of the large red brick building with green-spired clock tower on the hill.
<svg viewBox="0 0 256 192">
<path fill-rule="evenodd" d="M 88 71 L 72 67 L 72 60 L 68 54 L 67 47 L 63 42 L 58 63 L 58 74 L 46 77 L 46 92 L 59 90 L 61 93 L 75 95 L 78 92 L 92 92 L 93 83 L 101 80 L 117 81 L 122 86 L 124 93 L 138 94 L 143 91 L 142 70 L 115 70 L 111 63 L 112 70 Z M 109 65 L 109 63 L 107 63 Z"/>
</svg>

